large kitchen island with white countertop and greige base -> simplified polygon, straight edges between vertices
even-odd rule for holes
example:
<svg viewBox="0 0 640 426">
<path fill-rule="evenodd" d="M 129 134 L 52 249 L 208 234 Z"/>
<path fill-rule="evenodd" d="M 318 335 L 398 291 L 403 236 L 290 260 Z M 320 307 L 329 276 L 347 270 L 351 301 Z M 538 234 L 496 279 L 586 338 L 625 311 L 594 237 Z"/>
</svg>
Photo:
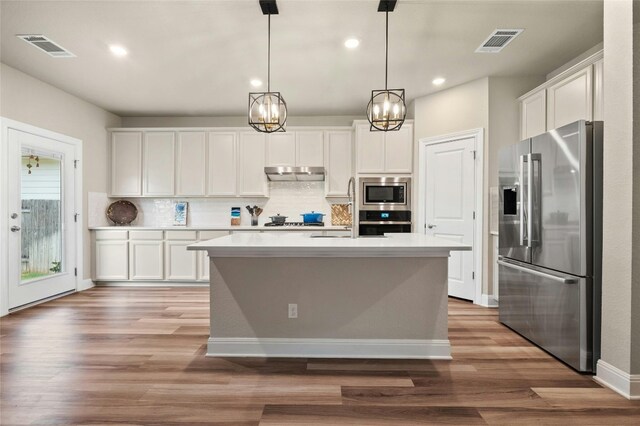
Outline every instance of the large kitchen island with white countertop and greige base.
<svg viewBox="0 0 640 426">
<path fill-rule="evenodd" d="M 188 249 L 210 258 L 208 356 L 451 358 L 447 262 L 468 245 L 238 233 Z"/>
</svg>

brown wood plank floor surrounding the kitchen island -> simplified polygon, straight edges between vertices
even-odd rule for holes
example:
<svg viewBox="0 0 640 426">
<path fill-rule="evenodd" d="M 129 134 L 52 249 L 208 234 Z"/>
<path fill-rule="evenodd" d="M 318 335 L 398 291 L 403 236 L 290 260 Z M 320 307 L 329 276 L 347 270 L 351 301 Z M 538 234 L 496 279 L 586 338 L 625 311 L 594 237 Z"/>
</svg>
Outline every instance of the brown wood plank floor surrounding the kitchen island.
<svg viewBox="0 0 640 426">
<path fill-rule="evenodd" d="M 206 358 L 206 288 L 97 288 L 1 320 L 2 425 L 640 424 L 628 401 L 449 302 L 453 361 Z"/>
</svg>

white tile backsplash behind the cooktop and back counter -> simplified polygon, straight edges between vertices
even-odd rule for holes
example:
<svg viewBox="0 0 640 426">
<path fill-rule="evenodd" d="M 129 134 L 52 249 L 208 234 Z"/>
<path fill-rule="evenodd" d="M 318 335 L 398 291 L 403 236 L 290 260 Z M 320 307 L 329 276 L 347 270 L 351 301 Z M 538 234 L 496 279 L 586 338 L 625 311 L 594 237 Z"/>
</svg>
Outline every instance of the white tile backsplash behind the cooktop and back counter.
<svg viewBox="0 0 640 426">
<path fill-rule="evenodd" d="M 264 209 L 259 218 L 260 225 L 278 213 L 287 216 L 290 222 L 302 221 L 300 214 L 311 211 L 326 214 L 324 221 L 331 224 L 331 203 L 325 198 L 324 182 L 269 182 L 269 194 L 269 198 L 132 198 L 129 201 L 138 207 L 138 218 L 132 225 L 173 226 L 176 201 L 189 203 L 188 226 L 229 226 L 231 207 L 241 207 L 242 225 L 250 225 L 251 216 L 246 205 Z"/>
</svg>

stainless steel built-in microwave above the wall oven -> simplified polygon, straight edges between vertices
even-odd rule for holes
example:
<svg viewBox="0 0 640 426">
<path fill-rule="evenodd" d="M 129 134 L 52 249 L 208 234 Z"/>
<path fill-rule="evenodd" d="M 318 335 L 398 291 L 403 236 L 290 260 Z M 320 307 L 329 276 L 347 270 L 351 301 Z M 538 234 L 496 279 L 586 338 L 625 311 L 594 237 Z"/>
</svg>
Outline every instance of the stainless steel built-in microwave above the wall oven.
<svg viewBox="0 0 640 426">
<path fill-rule="evenodd" d="M 360 179 L 360 210 L 411 210 L 411 178 Z"/>
</svg>

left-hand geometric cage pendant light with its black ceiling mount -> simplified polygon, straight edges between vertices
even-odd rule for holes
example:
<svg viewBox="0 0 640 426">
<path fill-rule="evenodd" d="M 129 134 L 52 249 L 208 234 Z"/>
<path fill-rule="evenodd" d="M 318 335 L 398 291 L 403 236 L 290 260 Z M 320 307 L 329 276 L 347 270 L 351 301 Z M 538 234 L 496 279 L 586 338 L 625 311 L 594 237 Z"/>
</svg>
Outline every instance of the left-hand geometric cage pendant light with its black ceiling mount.
<svg viewBox="0 0 640 426">
<path fill-rule="evenodd" d="M 271 91 L 271 15 L 278 14 L 275 0 L 260 0 L 268 16 L 267 91 L 249 93 L 249 125 L 262 133 L 285 132 L 287 104 L 280 92 Z"/>
</svg>

